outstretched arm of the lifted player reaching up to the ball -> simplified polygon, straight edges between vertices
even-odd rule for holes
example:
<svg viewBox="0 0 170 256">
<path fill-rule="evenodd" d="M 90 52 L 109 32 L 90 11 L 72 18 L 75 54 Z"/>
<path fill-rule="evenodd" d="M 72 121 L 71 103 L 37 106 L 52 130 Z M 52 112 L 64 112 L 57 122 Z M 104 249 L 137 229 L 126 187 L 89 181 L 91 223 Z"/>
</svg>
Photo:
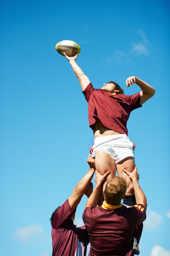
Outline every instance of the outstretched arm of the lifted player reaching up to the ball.
<svg viewBox="0 0 170 256">
<path fill-rule="evenodd" d="M 69 61 L 69 63 L 71 64 L 71 67 L 73 68 L 73 71 L 75 72 L 75 75 L 78 77 L 79 79 L 79 83 L 81 85 L 82 91 L 84 91 L 86 89 L 86 87 L 88 86 L 88 84 L 90 83 L 90 80 L 88 79 L 88 77 L 84 74 L 84 72 L 82 71 L 82 69 L 77 65 L 77 63 L 75 62 L 77 59 L 77 56 L 79 54 L 76 54 L 74 57 L 68 57 L 65 52 L 63 52 L 63 54 L 65 55 L 66 59 Z"/>
</svg>

